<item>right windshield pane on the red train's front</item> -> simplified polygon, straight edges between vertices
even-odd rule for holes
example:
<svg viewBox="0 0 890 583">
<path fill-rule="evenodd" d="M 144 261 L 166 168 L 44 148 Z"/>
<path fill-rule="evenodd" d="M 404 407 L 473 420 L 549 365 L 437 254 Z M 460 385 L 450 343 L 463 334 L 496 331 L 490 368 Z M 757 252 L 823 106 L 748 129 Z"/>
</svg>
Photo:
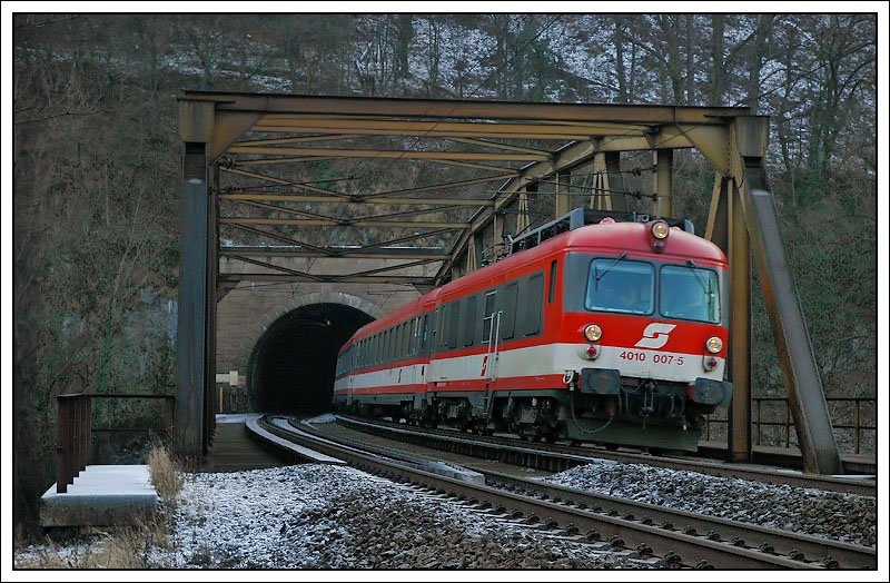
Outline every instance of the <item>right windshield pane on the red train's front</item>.
<svg viewBox="0 0 890 583">
<path fill-rule="evenodd" d="M 716 273 L 700 267 L 665 265 L 661 268 L 661 315 L 668 318 L 720 322 Z"/>
</svg>

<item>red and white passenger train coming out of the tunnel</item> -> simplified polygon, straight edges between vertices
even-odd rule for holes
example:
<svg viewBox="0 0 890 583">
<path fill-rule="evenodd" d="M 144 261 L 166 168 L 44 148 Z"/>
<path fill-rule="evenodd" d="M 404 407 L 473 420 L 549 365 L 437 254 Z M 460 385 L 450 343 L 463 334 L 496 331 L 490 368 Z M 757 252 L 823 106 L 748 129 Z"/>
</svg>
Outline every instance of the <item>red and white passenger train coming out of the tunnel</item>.
<svg viewBox="0 0 890 583">
<path fill-rule="evenodd" d="M 726 407 L 728 261 L 691 221 L 577 208 L 363 326 L 335 411 L 694 452 Z"/>
</svg>

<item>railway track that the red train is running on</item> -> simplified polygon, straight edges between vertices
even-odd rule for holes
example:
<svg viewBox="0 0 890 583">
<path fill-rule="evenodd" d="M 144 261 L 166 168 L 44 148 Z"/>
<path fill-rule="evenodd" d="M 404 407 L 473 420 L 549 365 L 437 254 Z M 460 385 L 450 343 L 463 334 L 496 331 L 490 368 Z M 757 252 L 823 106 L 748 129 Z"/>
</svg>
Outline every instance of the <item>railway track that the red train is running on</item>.
<svg viewBox="0 0 890 583">
<path fill-rule="evenodd" d="M 764 482 L 777 485 L 790 485 L 858 494 L 860 496 L 876 496 L 877 484 L 873 480 L 847 478 L 838 476 L 821 476 L 801 474 L 793 471 L 781 471 L 750 465 L 705 462 L 671 456 L 653 456 L 630 452 L 610 452 L 604 448 L 591 449 L 590 447 L 572 447 L 557 444 L 546 446 L 520 442 L 516 438 L 502 436 L 482 436 L 461 434 L 448 429 L 432 429 L 428 427 L 406 426 L 379 419 L 368 421 L 347 415 L 337 415 L 337 422 L 379 436 L 398 435 L 400 441 L 415 445 L 423 445 L 435 449 L 443 449 L 463 455 L 484 456 L 500 462 L 562 472 L 570 467 L 589 464 L 594 460 L 612 460 L 625 464 L 646 464 L 671 470 L 685 470 L 721 477 L 739 477 L 753 482 Z"/>
</svg>

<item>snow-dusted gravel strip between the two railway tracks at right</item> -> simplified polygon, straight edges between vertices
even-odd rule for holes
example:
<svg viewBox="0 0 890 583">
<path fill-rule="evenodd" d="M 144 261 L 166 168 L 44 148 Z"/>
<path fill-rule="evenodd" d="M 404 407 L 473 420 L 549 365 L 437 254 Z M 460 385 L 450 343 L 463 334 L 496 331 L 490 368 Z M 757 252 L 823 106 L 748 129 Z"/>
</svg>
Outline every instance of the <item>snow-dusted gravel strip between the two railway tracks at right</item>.
<svg viewBox="0 0 890 583">
<path fill-rule="evenodd" d="M 547 481 L 770 528 L 876 543 L 876 498 L 868 496 L 611 461 L 576 466 Z"/>
</svg>

